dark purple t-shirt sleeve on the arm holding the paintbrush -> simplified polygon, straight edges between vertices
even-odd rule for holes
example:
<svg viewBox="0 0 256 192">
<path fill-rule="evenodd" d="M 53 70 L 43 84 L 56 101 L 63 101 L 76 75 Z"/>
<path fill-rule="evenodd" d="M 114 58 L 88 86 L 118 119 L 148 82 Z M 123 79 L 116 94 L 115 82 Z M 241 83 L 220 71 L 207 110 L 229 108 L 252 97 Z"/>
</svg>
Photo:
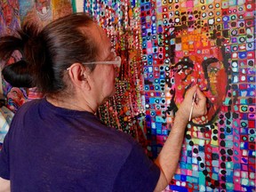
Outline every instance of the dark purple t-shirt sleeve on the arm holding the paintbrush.
<svg viewBox="0 0 256 192">
<path fill-rule="evenodd" d="M 125 163 L 121 167 L 113 191 L 140 191 L 150 192 L 156 188 L 160 170 L 146 156 L 140 145 L 135 145 Z"/>
</svg>

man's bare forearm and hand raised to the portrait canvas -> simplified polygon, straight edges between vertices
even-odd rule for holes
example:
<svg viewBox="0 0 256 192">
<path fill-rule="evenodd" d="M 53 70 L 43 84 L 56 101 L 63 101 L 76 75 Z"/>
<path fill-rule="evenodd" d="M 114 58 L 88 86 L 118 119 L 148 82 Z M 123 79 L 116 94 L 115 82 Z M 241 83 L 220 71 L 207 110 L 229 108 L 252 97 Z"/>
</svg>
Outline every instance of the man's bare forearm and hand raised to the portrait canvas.
<svg viewBox="0 0 256 192">
<path fill-rule="evenodd" d="M 189 112 L 192 105 L 193 95 L 196 92 L 197 101 L 194 106 L 193 116 L 203 116 L 206 113 L 206 98 L 197 86 L 193 86 L 186 93 L 185 99 L 180 105 L 172 130 L 164 143 L 160 154 L 156 158 L 156 164 L 161 173 L 156 184 L 155 192 L 164 190 L 172 180 L 180 159 L 180 150 L 184 138 L 185 128 L 188 124 Z"/>
</svg>

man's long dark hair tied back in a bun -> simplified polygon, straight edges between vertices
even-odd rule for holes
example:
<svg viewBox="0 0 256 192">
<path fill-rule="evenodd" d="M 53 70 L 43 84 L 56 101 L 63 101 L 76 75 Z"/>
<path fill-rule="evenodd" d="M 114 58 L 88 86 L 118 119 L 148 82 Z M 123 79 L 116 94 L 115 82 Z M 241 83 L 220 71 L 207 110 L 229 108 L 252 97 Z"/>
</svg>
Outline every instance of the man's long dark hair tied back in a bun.
<svg viewBox="0 0 256 192">
<path fill-rule="evenodd" d="M 0 37 L 0 59 L 9 60 L 12 52 L 22 58 L 3 69 L 4 79 L 13 86 L 36 86 L 44 93 L 57 93 L 67 87 L 66 69 L 75 62 L 94 61 L 98 53 L 90 27 L 94 21 L 84 12 L 54 20 L 42 30 L 25 23 L 16 36 Z M 88 66 L 91 70 L 94 65 Z M 20 82 L 17 84 L 17 82 Z"/>
</svg>

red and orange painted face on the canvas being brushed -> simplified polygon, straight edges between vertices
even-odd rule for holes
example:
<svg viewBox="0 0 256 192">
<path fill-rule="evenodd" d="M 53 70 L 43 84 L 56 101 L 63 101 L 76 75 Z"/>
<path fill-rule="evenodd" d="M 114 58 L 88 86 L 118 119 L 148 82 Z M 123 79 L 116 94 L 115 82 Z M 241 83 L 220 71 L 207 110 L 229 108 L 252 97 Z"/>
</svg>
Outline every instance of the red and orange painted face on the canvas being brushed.
<svg viewBox="0 0 256 192">
<path fill-rule="evenodd" d="M 227 93 L 228 74 L 220 46 L 204 34 L 182 30 L 176 34 L 175 65 L 172 66 L 174 102 L 179 108 L 188 88 L 197 84 L 207 98 L 207 115 L 192 124 L 211 124 Z"/>
</svg>

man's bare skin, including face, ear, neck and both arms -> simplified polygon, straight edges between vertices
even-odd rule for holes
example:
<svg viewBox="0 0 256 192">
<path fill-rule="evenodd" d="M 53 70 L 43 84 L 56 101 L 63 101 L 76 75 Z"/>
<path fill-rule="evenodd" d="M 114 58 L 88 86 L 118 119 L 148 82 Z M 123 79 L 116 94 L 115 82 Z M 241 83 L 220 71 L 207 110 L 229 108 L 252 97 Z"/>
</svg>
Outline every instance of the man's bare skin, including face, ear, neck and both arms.
<svg viewBox="0 0 256 192">
<path fill-rule="evenodd" d="M 111 44 L 103 29 L 96 24 L 92 25 L 92 36 L 99 44 L 99 60 L 111 60 Z M 115 65 L 97 65 L 91 72 L 81 63 L 73 63 L 68 69 L 68 76 L 73 85 L 74 95 L 67 100 L 67 97 L 47 96 L 46 99 L 57 107 L 85 110 L 95 113 L 100 104 L 109 96 L 115 93 Z M 186 125 L 188 124 L 189 110 L 194 92 L 197 95 L 197 102 L 194 107 L 193 117 L 202 116 L 206 113 L 205 97 L 197 86 L 193 86 L 186 93 L 185 99 L 180 104 L 180 109 L 175 117 L 172 132 L 164 144 L 156 165 L 161 173 L 157 181 L 155 191 L 162 191 L 172 180 L 173 174 L 180 159 L 180 148 L 182 145 Z M 0 180 L 5 185 L 6 191 L 10 188 L 10 182 Z M 3 184 L 5 182 L 5 184 Z"/>
</svg>

